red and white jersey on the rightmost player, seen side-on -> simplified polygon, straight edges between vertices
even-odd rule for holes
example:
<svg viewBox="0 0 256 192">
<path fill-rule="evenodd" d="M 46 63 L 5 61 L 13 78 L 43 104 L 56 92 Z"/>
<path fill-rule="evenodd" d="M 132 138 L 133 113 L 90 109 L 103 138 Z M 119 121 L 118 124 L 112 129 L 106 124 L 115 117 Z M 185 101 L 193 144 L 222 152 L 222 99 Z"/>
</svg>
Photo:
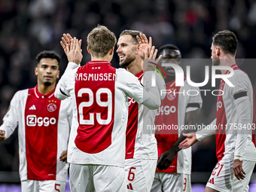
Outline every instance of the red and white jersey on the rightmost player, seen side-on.
<svg viewBox="0 0 256 192">
<path fill-rule="evenodd" d="M 251 134 L 248 134 L 246 142 L 240 143 L 239 145 L 245 146 L 245 150 L 241 155 L 244 160 L 256 160 L 255 138 L 253 133 L 253 126 L 255 125 L 254 93 L 251 87 L 251 81 L 248 75 L 242 72 L 236 64 L 231 67 L 234 70 L 234 75 L 229 78 L 229 81 L 234 87 L 228 86 L 222 79 L 219 87 L 219 90 L 221 90 L 223 94 L 221 95 L 220 93 L 218 95 L 216 108 L 216 126 L 218 127 L 215 131 L 216 155 L 219 161 L 224 156 L 234 158 L 236 154 L 237 129 L 240 125 L 234 96 L 237 95 L 237 93 L 247 92 L 247 96 L 243 96 L 241 99 L 249 99 L 251 113 L 245 126 L 251 129 Z M 229 71 L 227 71 L 226 74 L 228 72 Z"/>
</svg>

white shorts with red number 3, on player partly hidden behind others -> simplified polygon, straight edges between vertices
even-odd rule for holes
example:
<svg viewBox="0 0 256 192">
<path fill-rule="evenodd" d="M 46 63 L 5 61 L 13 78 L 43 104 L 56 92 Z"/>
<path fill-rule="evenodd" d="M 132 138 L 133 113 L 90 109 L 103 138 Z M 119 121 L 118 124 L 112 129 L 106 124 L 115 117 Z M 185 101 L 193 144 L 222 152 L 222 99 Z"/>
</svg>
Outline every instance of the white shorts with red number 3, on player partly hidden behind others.
<svg viewBox="0 0 256 192">
<path fill-rule="evenodd" d="M 151 192 L 191 192 L 190 175 L 177 172 L 156 172 Z"/>
</svg>

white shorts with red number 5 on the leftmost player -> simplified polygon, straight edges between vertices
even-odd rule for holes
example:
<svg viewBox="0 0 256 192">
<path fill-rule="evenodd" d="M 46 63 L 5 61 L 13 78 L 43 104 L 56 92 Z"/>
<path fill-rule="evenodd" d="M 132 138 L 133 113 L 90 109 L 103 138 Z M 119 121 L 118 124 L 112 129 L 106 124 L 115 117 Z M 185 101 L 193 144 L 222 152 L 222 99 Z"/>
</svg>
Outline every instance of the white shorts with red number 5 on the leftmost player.
<svg viewBox="0 0 256 192">
<path fill-rule="evenodd" d="M 21 191 L 23 192 L 63 192 L 66 187 L 66 182 L 56 180 L 21 181 Z"/>
</svg>

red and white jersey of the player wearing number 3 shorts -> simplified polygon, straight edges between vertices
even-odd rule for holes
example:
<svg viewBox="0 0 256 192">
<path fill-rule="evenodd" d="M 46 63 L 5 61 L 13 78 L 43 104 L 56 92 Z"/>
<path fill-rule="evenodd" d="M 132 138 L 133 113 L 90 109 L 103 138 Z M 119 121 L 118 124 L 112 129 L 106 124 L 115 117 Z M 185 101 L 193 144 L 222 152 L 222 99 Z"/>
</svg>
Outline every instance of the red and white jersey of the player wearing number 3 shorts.
<svg viewBox="0 0 256 192">
<path fill-rule="evenodd" d="M 185 116 L 188 111 L 194 111 L 202 107 L 202 99 L 198 87 L 191 87 L 184 78 L 184 87 L 175 87 L 175 80 L 166 84 L 166 98 L 157 109 L 155 125 L 162 126 L 157 130 L 158 157 L 168 151 L 177 142 L 184 130 Z M 190 90 L 190 91 L 188 91 Z M 175 94 L 174 94 L 175 92 Z M 188 93 L 188 94 L 187 94 Z M 168 128 L 169 127 L 169 128 Z M 191 148 L 178 151 L 175 159 L 168 169 L 157 172 L 178 172 L 190 174 L 191 172 Z"/>
</svg>

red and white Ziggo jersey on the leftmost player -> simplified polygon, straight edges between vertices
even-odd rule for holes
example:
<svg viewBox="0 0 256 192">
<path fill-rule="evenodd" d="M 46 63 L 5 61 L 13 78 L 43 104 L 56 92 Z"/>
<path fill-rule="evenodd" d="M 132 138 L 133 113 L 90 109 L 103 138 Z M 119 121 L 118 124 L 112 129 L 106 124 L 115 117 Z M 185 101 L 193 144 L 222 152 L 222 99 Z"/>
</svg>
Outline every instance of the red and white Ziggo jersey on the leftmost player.
<svg viewBox="0 0 256 192">
<path fill-rule="evenodd" d="M 37 86 L 15 93 L 0 130 L 8 138 L 19 127 L 20 180 L 66 181 L 69 164 L 59 160 L 68 148 L 72 124 L 70 99 L 60 101 Z"/>
</svg>

